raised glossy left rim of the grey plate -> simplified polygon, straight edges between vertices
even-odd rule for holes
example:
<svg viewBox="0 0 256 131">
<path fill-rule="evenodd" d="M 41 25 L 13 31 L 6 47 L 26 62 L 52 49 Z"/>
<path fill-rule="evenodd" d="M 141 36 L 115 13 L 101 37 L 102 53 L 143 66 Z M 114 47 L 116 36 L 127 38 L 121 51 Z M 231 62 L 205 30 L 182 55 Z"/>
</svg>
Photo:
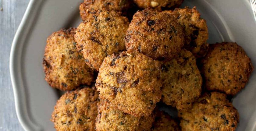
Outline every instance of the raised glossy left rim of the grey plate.
<svg viewBox="0 0 256 131">
<path fill-rule="evenodd" d="M 14 101 L 15 101 L 15 110 L 16 110 L 16 115 L 17 118 L 23 127 L 24 130 L 26 131 L 34 131 L 34 130 L 42 130 L 42 128 L 34 124 L 34 122 L 31 120 L 30 116 L 28 114 L 28 107 L 26 106 L 26 95 L 24 93 L 20 93 L 20 91 L 24 91 L 24 85 L 19 85 L 17 79 L 18 76 L 15 73 L 15 56 L 17 54 L 18 50 L 18 44 L 20 43 L 20 39 L 23 35 L 26 35 L 26 33 L 23 32 L 25 29 L 25 26 L 28 21 L 33 21 L 34 19 L 29 19 L 30 16 L 32 15 L 32 10 L 35 10 L 37 12 L 38 10 L 38 5 L 37 3 L 41 3 L 42 0 L 30 0 L 27 9 L 22 17 L 22 20 L 20 22 L 20 25 L 14 35 L 12 45 L 11 45 L 11 50 L 10 50 L 10 58 L 9 58 L 9 71 L 10 71 L 10 77 L 11 77 L 11 83 L 12 83 L 12 90 L 14 94 Z M 37 5 L 36 5 L 37 4 Z M 21 79 L 20 79 L 21 80 Z M 21 80 L 22 82 L 22 80 Z M 25 92 L 25 91 L 24 91 Z M 24 103 L 22 103 L 24 102 Z"/>
</svg>

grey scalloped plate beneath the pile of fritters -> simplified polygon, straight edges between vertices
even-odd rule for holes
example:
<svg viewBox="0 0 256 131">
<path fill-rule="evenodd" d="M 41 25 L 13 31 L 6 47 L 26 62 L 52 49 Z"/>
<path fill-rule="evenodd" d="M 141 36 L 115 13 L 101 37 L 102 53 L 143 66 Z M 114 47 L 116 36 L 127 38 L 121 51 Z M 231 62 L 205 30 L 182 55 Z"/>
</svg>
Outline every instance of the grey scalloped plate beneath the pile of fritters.
<svg viewBox="0 0 256 131">
<path fill-rule="evenodd" d="M 18 119 L 27 131 L 55 130 L 50 122 L 57 90 L 44 80 L 42 58 L 46 38 L 63 27 L 76 27 L 83 0 L 31 0 L 14 37 L 10 74 Z M 235 41 L 256 66 L 256 23 L 249 0 L 185 0 L 183 7 L 197 6 L 207 20 L 209 43 Z M 237 131 L 256 128 L 256 74 L 234 99 L 240 113 Z"/>
</svg>

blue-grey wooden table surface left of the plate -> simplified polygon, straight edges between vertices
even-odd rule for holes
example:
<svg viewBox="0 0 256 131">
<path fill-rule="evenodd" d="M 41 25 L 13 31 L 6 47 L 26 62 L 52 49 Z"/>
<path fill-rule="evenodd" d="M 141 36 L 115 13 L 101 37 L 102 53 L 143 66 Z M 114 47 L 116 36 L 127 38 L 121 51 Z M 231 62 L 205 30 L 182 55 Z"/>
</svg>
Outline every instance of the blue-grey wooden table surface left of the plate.
<svg viewBox="0 0 256 131">
<path fill-rule="evenodd" d="M 0 0 L 0 131 L 23 131 L 15 112 L 9 73 L 12 39 L 29 0 Z"/>
</svg>

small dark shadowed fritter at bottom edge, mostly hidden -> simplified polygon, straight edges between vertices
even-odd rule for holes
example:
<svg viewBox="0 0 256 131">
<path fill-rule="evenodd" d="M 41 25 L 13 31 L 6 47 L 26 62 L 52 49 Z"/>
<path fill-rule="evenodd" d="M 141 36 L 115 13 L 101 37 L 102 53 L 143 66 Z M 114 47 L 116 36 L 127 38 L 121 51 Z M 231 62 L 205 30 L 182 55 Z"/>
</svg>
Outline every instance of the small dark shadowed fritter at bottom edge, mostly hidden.
<svg viewBox="0 0 256 131">
<path fill-rule="evenodd" d="M 179 124 L 163 111 L 157 112 L 151 131 L 180 131 Z"/>
</svg>

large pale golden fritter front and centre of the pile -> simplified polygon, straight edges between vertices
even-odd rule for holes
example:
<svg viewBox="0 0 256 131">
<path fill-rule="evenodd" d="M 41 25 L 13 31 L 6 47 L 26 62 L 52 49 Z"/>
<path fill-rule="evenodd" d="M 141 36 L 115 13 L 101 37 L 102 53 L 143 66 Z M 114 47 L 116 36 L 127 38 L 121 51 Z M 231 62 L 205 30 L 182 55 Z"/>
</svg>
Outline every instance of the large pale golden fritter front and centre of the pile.
<svg viewBox="0 0 256 131">
<path fill-rule="evenodd" d="M 160 64 L 138 52 L 104 59 L 96 80 L 99 97 L 136 117 L 148 116 L 161 99 Z"/>
</svg>

